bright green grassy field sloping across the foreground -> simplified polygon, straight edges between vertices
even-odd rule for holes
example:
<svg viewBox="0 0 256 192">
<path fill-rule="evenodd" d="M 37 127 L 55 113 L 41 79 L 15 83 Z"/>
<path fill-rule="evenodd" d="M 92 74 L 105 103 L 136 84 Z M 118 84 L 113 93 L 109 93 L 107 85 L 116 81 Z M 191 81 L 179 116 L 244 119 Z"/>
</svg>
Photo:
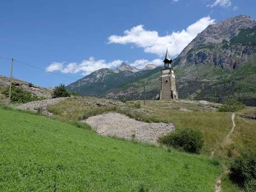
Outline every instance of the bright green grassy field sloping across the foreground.
<svg viewBox="0 0 256 192">
<path fill-rule="evenodd" d="M 0 108 L 0 191 L 214 191 L 204 156 L 102 137 Z"/>
</svg>

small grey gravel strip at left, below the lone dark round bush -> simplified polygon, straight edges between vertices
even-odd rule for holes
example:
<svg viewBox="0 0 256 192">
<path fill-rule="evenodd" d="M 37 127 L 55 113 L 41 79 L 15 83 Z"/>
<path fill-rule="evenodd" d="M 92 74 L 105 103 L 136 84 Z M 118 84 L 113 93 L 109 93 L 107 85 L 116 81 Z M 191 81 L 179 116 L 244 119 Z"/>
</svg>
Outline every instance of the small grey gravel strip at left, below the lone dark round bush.
<svg viewBox="0 0 256 192">
<path fill-rule="evenodd" d="M 42 112 L 45 112 L 47 115 L 52 115 L 50 111 L 47 110 L 47 105 L 57 104 L 57 102 L 62 101 L 65 97 L 59 97 L 55 99 L 46 99 L 41 101 L 32 101 L 26 104 L 22 104 L 18 106 L 18 109 L 21 110 L 29 110 L 29 111 L 37 111 L 40 109 Z"/>
</svg>

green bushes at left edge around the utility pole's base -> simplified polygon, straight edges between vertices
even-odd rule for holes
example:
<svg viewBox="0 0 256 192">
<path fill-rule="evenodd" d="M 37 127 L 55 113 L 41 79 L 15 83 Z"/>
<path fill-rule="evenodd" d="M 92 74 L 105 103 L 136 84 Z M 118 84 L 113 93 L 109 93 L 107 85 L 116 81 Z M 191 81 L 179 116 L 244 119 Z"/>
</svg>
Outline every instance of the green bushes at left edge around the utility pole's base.
<svg viewBox="0 0 256 192">
<path fill-rule="evenodd" d="M 9 97 L 9 89 L 8 88 L 3 90 L 2 93 L 4 96 Z M 31 102 L 31 101 L 38 101 L 41 99 L 42 98 L 33 95 L 31 92 L 28 92 L 28 91 L 24 90 L 23 88 L 19 88 L 19 87 L 12 85 L 12 95 L 11 95 L 12 102 L 26 103 L 26 102 Z"/>
</svg>

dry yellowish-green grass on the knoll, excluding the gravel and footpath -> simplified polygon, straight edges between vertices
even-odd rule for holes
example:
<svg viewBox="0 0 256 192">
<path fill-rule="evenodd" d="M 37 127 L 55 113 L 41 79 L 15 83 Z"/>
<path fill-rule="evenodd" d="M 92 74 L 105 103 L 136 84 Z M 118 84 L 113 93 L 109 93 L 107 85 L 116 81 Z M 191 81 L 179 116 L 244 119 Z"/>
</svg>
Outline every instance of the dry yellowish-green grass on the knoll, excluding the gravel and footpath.
<svg viewBox="0 0 256 192">
<path fill-rule="evenodd" d="M 171 122 L 178 129 L 180 127 L 200 129 L 203 131 L 205 139 L 203 153 L 210 155 L 211 151 L 214 150 L 215 156 L 220 157 L 224 162 L 227 162 L 227 164 L 228 161 L 232 160 L 232 158 L 237 155 L 241 149 L 256 149 L 256 121 L 240 117 L 240 114 L 254 114 L 256 112 L 255 107 L 246 107 L 242 111 L 236 112 L 236 127 L 232 134 L 233 143 L 231 145 L 225 145 L 227 135 L 232 129 L 232 112 L 202 111 L 200 107 L 205 107 L 205 105 L 165 101 L 146 101 L 146 107 L 144 107 L 143 102 L 139 101 L 142 106 L 140 110 L 150 110 L 151 113 L 148 113 L 134 111 L 129 107 L 122 107 L 122 109 L 119 109 L 119 107 L 93 107 L 90 105 L 84 105 L 85 101 L 88 102 L 90 100 L 93 101 L 97 99 L 90 97 L 80 99 L 71 98 L 50 106 L 50 109 L 53 112 L 56 111 L 58 114 L 57 116 L 60 119 L 79 120 L 91 115 L 100 114 L 104 111 L 114 110 L 146 122 Z M 132 106 L 134 103 L 135 102 L 129 101 L 126 102 L 126 105 Z M 186 108 L 193 110 L 193 112 L 179 111 L 179 108 Z M 230 154 L 232 155 L 231 157 Z M 237 192 L 240 190 L 228 179 L 228 176 L 224 174 L 222 180 L 222 191 Z"/>
</svg>

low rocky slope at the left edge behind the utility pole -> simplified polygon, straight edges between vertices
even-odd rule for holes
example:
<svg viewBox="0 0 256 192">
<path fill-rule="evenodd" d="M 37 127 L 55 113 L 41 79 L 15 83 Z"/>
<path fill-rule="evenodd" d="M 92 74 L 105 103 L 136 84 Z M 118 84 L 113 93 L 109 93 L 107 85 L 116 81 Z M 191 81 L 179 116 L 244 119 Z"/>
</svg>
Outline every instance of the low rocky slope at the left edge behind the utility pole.
<svg viewBox="0 0 256 192">
<path fill-rule="evenodd" d="M 0 92 L 4 88 L 9 87 L 9 77 L 6 76 L 0 76 Z M 31 92 L 33 95 L 37 97 L 43 97 L 43 98 L 51 98 L 52 97 L 52 90 L 49 90 L 48 88 L 39 87 L 36 85 L 33 85 L 32 83 L 21 81 L 16 78 L 13 79 L 13 85 L 19 88 L 23 88 L 24 90 Z M 0 94 L 1 96 L 1 94 Z"/>
</svg>

